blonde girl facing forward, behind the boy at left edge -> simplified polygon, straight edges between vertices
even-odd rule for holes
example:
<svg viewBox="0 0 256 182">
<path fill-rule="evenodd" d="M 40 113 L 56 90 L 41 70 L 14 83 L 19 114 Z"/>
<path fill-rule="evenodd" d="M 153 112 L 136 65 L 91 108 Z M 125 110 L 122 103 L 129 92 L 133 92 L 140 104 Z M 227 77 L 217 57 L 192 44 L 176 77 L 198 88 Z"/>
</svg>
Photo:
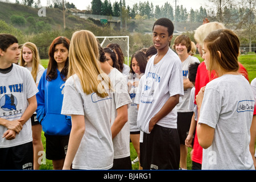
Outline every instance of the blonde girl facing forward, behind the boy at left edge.
<svg viewBox="0 0 256 182">
<path fill-rule="evenodd" d="M 44 67 L 40 64 L 40 57 L 38 48 L 34 43 L 26 42 L 23 44 L 20 55 L 20 66 L 27 68 L 34 78 L 36 86 L 38 86 L 41 76 L 44 72 Z M 38 119 L 36 119 L 36 113 L 31 117 L 32 125 L 32 137 L 33 137 L 33 149 L 34 149 L 34 169 L 38 170 L 40 164 L 38 159 L 40 158 L 39 152 L 44 150 L 42 143 L 42 126 Z"/>
</svg>

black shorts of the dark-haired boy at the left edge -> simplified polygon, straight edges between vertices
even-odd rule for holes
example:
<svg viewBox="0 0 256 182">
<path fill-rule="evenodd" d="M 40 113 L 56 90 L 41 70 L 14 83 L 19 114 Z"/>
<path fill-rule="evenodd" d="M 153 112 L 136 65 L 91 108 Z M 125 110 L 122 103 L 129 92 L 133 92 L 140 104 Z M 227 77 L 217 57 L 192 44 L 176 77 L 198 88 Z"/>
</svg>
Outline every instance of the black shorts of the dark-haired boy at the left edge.
<svg viewBox="0 0 256 182">
<path fill-rule="evenodd" d="M 33 170 L 32 142 L 0 148 L 0 170 Z"/>
</svg>

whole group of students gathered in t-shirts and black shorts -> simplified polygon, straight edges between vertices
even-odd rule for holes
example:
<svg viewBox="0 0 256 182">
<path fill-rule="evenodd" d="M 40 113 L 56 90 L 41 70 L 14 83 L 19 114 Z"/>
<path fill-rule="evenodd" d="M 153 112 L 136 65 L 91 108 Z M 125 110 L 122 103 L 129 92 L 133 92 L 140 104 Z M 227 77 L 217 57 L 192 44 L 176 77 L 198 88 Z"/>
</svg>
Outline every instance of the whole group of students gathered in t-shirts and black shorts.
<svg viewBox="0 0 256 182">
<path fill-rule="evenodd" d="M 130 140 L 141 169 L 185 169 L 187 146 L 192 169 L 254 169 L 255 101 L 237 35 L 217 22 L 197 28 L 200 63 L 188 36 L 172 51 L 170 19 L 152 32 L 130 67 L 90 31 L 59 36 L 46 70 L 34 44 L 20 51 L 0 34 L 0 169 L 39 169 L 42 130 L 53 169 L 131 169 Z"/>
</svg>

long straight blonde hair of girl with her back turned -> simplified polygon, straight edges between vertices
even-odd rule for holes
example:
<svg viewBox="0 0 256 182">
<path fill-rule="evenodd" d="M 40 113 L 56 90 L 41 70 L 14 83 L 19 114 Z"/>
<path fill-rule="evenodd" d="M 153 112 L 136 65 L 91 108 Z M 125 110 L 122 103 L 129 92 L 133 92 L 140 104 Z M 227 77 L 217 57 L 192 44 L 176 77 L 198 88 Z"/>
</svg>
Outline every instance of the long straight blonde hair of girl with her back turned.
<svg viewBox="0 0 256 182">
<path fill-rule="evenodd" d="M 110 88 L 110 80 L 102 72 L 98 56 L 98 42 L 92 32 L 80 30 L 73 33 L 69 47 L 68 77 L 76 74 L 84 93 L 95 92 L 104 98 L 108 96 L 106 86 Z"/>
</svg>

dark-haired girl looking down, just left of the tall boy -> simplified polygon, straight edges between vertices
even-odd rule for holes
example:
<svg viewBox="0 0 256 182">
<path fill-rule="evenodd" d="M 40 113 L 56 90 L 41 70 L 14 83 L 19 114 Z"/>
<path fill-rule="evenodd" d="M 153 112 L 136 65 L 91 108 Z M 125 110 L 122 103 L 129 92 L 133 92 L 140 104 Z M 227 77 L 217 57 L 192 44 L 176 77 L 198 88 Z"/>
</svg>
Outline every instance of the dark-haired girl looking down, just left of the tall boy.
<svg viewBox="0 0 256 182">
<path fill-rule="evenodd" d="M 138 155 L 137 158 L 133 160 L 132 164 L 139 162 L 139 137 L 141 132 L 137 126 L 138 107 L 137 104 L 134 103 L 134 100 L 137 93 L 139 80 L 144 75 L 146 65 L 147 57 L 142 51 L 135 52 L 133 56 L 131 56 L 131 71 L 127 76 L 127 83 L 128 92 L 130 94 L 132 103 L 128 109 L 128 121 L 130 123 L 130 139 Z"/>
</svg>

